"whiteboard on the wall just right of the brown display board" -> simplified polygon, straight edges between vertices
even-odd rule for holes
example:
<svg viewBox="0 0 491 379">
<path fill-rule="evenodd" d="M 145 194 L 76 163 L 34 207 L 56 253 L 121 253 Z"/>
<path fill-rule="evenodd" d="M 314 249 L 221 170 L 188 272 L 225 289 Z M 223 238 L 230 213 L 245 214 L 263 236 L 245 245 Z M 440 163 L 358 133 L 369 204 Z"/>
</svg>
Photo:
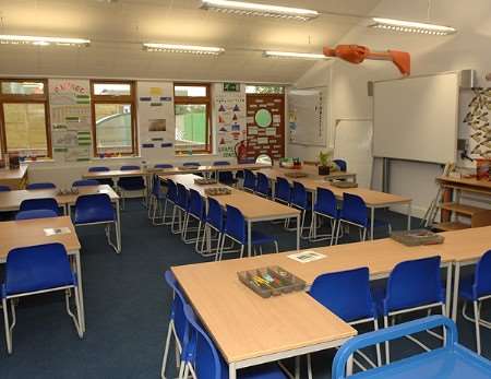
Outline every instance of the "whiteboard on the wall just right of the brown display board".
<svg viewBox="0 0 491 379">
<path fill-rule="evenodd" d="M 325 146 L 327 88 L 291 90 L 287 94 L 289 141 Z"/>
</svg>

